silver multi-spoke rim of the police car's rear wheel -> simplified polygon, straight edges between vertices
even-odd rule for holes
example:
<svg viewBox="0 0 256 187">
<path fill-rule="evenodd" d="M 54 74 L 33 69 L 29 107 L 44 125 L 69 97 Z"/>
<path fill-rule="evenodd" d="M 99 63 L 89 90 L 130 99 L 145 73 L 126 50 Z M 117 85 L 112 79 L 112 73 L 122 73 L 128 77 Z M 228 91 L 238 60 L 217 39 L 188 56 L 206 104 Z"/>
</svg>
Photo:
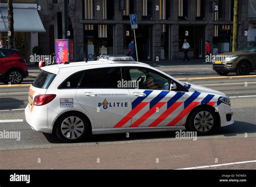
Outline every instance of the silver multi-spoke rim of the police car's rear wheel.
<svg viewBox="0 0 256 187">
<path fill-rule="evenodd" d="M 63 120 L 60 130 L 66 138 L 75 140 L 83 134 L 84 123 L 82 119 L 70 116 Z"/>
</svg>

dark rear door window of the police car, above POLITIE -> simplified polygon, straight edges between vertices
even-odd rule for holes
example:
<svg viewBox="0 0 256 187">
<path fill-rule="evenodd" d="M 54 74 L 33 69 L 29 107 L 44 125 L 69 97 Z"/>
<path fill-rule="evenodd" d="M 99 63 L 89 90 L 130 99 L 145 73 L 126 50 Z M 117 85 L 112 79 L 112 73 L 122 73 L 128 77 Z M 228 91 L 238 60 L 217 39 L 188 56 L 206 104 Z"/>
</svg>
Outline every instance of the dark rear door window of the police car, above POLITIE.
<svg viewBox="0 0 256 187">
<path fill-rule="evenodd" d="M 120 67 L 86 70 L 79 88 L 118 88 L 122 80 Z"/>
</svg>

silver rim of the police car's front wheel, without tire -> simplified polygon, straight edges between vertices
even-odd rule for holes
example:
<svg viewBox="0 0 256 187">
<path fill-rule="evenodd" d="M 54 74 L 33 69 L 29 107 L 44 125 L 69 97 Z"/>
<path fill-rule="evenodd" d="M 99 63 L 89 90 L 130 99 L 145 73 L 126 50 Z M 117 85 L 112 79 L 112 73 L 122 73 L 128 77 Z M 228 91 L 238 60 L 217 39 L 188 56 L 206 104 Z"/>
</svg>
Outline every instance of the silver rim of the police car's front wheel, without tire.
<svg viewBox="0 0 256 187">
<path fill-rule="evenodd" d="M 194 118 L 194 127 L 199 132 L 210 131 L 213 127 L 214 119 L 210 112 L 201 111 Z"/>
</svg>

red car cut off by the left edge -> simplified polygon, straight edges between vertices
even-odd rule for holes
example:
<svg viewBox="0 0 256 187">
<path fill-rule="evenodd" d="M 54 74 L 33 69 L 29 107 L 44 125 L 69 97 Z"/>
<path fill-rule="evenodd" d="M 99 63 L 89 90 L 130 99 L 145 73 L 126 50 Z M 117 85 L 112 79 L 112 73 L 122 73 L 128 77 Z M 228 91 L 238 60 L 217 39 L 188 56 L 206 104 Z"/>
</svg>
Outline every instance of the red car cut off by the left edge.
<svg viewBox="0 0 256 187">
<path fill-rule="evenodd" d="M 26 60 L 15 49 L 0 48 L 0 81 L 19 84 L 29 75 Z"/>
</svg>

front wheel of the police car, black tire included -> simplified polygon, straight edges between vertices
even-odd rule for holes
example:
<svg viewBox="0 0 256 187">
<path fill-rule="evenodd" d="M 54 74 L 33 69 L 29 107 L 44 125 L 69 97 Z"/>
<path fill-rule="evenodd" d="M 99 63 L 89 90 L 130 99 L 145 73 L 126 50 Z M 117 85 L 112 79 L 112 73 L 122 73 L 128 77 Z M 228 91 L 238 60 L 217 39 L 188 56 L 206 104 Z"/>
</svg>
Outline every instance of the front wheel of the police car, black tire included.
<svg viewBox="0 0 256 187">
<path fill-rule="evenodd" d="M 207 135 L 215 131 L 218 124 L 217 113 L 208 107 L 199 107 L 192 111 L 188 120 L 188 130 L 199 135 Z"/>
</svg>

